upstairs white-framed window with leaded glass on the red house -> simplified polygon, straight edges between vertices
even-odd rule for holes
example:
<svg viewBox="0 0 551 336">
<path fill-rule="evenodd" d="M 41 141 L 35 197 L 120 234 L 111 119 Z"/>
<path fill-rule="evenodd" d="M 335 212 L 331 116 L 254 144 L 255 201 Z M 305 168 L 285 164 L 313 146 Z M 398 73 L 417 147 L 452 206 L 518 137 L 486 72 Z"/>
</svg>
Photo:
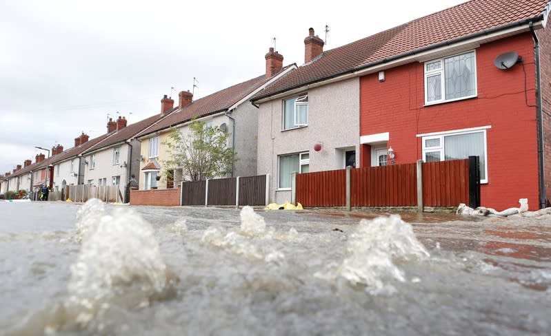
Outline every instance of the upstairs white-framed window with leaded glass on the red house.
<svg viewBox="0 0 551 336">
<path fill-rule="evenodd" d="M 425 62 L 425 105 L 477 96 L 474 50 Z"/>
</svg>

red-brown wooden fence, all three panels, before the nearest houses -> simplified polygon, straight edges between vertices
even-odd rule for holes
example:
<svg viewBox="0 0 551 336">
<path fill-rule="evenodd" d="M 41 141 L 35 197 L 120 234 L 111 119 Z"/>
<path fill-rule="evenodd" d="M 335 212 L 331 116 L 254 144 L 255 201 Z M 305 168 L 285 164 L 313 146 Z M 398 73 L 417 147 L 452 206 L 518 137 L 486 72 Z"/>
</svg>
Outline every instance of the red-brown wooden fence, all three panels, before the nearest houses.
<svg viewBox="0 0 551 336">
<path fill-rule="evenodd" d="M 422 163 L 425 207 L 470 204 L 469 159 Z M 346 169 L 297 174 L 295 200 L 304 207 L 343 207 Z M 418 206 L 417 164 L 350 169 L 351 207 Z"/>
</svg>

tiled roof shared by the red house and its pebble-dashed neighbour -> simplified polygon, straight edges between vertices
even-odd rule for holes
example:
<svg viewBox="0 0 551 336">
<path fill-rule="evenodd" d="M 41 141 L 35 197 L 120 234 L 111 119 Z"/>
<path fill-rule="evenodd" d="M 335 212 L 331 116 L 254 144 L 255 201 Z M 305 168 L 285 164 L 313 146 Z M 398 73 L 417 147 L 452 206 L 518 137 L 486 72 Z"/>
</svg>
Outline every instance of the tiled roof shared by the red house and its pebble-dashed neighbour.
<svg viewBox="0 0 551 336">
<path fill-rule="evenodd" d="M 327 50 L 254 95 L 259 100 L 421 50 L 514 23 L 543 17 L 548 0 L 472 0 L 359 41 Z"/>
</svg>

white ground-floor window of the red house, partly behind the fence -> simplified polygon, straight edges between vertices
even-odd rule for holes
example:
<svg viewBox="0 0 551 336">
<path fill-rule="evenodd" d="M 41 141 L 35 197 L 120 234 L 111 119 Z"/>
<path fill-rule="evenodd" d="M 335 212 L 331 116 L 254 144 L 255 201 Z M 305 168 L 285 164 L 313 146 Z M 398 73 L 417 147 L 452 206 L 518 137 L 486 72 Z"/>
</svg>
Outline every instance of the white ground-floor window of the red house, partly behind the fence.
<svg viewBox="0 0 551 336">
<path fill-rule="evenodd" d="M 479 156 L 480 182 L 488 183 L 488 150 L 485 129 L 423 136 L 422 139 L 425 162 L 459 160 L 469 156 Z"/>
</svg>

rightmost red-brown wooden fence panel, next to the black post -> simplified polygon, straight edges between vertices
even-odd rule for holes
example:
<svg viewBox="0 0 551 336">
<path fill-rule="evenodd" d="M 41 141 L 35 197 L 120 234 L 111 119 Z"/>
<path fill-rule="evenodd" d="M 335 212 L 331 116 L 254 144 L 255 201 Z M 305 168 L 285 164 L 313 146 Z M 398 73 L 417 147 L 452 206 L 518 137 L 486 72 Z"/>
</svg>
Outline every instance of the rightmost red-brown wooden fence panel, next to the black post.
<svg viewBox="0 0 551 336">
<path fill-rule="evenodd" d="M 457 207 L 469 203 L 469 162 L 423 163 L 423 202 L 426 207 Z"/>
</svg>

